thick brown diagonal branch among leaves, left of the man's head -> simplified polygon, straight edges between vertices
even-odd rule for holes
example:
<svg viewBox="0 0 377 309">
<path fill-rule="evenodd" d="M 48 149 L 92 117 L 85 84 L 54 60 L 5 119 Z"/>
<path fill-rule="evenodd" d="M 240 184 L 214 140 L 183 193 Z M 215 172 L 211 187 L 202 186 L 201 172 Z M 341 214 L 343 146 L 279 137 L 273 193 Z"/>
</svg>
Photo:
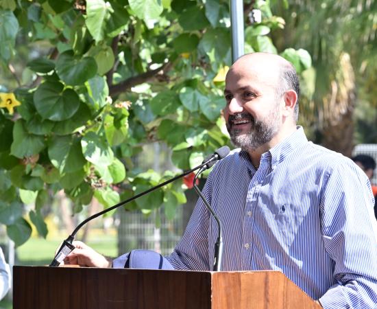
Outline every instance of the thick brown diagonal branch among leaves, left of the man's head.
<svg viewBox="0 0 377 309">
<path fill-rule="evenodd" d="M 147 82 L 154 78 L 158 73 L 166 73 L 171 68 L 171 62 L 164 63 L 158 69 L 146 71 L 145 73 L 141 73 L 137 76 L 132 76 L 127 78 L 127 80 L 123 80 L 119 84 L 114 84 L 109 87 L 110 96 L 119 95 L 120 93 L 129 90 L 131 87 L 134 87 L 138 84 L 143 84 L 143 82 Z"/>
</svg>

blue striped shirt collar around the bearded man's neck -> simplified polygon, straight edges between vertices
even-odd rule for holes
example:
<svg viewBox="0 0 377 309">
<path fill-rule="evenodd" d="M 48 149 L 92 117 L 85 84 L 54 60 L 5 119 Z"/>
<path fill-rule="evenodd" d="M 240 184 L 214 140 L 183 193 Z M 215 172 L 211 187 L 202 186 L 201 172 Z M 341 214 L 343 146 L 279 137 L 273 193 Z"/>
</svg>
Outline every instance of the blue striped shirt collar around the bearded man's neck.
<svg viewBox="0 0 377 309">
<path fill-rule="evenodd" d="M 269 161 L 269 163 L 271 163 L 271 168 L 273 169 L 276 167 L 276 165 L 278 165 L 278 163 L 282 162 L 285 158 L 291 155 L 293 150 L 304 146 L 304 144 L 308 142 L 302 126 L 297 126 L 296 128 L 297 130 L 289 135 L 289 137 L 286 137 L 283 141 L 280 141 L 278 145 L 274 146 L 262 155 L 260 165 L 263 164 L 263 161 Z M 241 161 L 247 165 L 247 168 L 255 170 L 249 154 L 246 151 L 241 150 L 239 152 L 239 157 Z"/>
</svg>

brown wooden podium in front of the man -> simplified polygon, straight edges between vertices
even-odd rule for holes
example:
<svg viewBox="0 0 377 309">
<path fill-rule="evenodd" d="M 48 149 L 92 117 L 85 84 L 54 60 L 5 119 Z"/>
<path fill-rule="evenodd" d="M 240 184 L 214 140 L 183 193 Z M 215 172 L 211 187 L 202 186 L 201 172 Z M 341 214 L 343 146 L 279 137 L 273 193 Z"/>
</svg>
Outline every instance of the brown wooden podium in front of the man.
<svg viewBox="0 0 377 309">
<path fill-rule="evenodd" d="M 278 271 L 14 266 L 14 309 L 321 308 Z"/>
</svg>

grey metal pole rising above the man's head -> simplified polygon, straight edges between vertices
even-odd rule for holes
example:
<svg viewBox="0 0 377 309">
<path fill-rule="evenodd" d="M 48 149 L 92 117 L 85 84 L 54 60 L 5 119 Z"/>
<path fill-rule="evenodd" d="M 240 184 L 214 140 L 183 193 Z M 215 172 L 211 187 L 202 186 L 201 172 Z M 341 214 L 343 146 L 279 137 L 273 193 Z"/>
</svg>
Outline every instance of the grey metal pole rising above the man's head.
<svg viewBox="0 0 377 309">
<path fill-rule="evenodd" d="M 230 23 L 232 27 L 232 62 L 234 62 L 245 54 L 243 0 L 230 0 Z"/>
</svg>

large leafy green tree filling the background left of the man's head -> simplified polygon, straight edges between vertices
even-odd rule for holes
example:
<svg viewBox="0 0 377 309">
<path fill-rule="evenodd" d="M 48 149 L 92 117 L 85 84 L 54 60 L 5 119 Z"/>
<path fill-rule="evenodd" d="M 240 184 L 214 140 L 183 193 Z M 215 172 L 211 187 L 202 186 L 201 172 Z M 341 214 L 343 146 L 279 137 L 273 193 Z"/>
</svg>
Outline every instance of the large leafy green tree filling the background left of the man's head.
<svg viewBox="0 0 377 309">
<path fill-rule="evenodd" d="M 21 106 L 14 115 L 0 113 L 0 222 L 17 245 L 31 223 L 46 236 L 41 209 L 49 194 L 64 190 L 75 211 L 93 197 L 109 207 L 173 176 L 138 172 L 132 158 L 144 144 L 166 143 L 173 163 L 186 170 L 228 143 L 218 74 L 232 62 L 228 1 L 1 5 L 1 87 Z M 269 33 L 284 20 L 268 1 L 255 5 L 263 21 L 247 21 L 245 49 L 277 52 Z M 251 4 L 245 8 L 246 15 Z M 302 50 L 282 55 L 298 71 L 310 66 Z M 174 183 L 125 207 L 148 214 L 165 205 L 172 218 L 183 190 Z"/>
</svg>

